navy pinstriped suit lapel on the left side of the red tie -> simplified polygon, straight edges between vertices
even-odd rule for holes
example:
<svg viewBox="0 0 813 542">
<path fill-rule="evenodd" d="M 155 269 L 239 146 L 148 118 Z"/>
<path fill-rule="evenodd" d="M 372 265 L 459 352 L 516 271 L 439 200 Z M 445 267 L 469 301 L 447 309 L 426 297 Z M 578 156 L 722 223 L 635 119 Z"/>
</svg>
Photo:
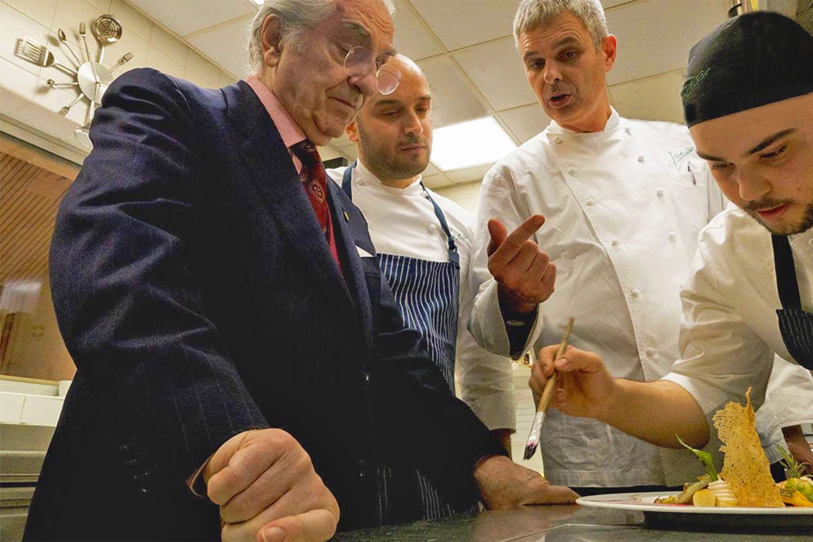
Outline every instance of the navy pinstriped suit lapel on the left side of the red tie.
<svg viewBox="0 0 813 542">
<path fill-rule="evenodd" d="M 244 81 L 223 89 L 228 117 L 245 137 L 238 146 L 254 184 L 280 230 L 307 262 L 314 284 L 353 304 L 288 149 L 254 91 Z"/>
</svg>

